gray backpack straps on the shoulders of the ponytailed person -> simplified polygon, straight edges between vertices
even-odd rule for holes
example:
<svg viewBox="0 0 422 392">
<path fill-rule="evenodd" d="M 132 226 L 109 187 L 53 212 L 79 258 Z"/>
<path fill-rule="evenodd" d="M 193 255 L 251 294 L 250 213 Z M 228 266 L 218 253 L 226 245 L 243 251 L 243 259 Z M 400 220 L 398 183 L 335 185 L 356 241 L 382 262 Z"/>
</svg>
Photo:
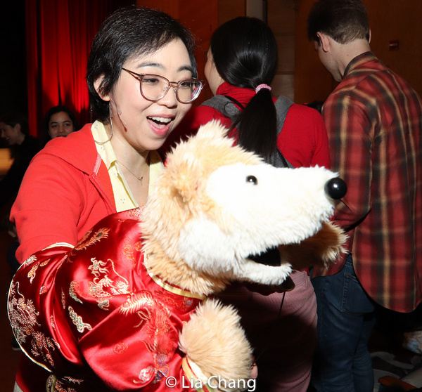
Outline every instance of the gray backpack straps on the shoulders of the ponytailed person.
<svg viewBox="0 0 422 392">
<path fill-rule="evenodd" d="M 281 129 L 283 129 L 284 122 L 286 120 L 287 112 L 290 109 L 290 106 L 293 105 L 293 101 L 285 96 L 279 96 L 276 102 L 274 103 L 276 106 L 277 112 L 277 138 L 281 133 Z M 201 106 L 210 106 L 213 107 L 215 110 L 218 110 L 222 115 L 229 117 L 231 122 L 234 122 L 236 116 L 238 115 L 238 107 L 234 105 L 234 103 L 225 96 L 213 96 L 212 98 L 206 100 L 204 103 L 201 103 Z M 276 156 L 276 167 L 290 167 L 293 168 L 293 165 L 288 162 L 288 160 L 283 157 L 281 151 L 277 148 L 279 154 Z"/>
</svg>

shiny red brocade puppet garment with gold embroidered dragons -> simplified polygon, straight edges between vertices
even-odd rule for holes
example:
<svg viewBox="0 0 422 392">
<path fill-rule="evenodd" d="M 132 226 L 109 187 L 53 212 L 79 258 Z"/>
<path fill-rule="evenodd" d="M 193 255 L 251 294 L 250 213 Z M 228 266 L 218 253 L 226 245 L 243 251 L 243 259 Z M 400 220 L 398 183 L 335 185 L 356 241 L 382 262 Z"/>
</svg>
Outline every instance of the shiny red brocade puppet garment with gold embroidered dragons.
<svg viewBox="0 0 422 392">
<path fill-rule="evenodd" d="M 13 278 L 13 331 L 56 391 L 168 391 L 166 377 L 184 374 L 179 332 L 200 296 L 148 274 L 140 214 L 104 218 L 74 249 L 39 251 Z"/>
</svg>

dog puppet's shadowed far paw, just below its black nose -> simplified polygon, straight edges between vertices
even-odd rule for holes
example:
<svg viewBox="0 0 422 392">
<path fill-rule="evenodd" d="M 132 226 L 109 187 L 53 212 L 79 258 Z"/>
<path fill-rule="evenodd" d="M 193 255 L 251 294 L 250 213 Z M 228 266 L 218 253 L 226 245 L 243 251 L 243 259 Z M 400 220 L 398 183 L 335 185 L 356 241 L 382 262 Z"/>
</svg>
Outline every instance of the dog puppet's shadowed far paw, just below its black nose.
<svg viewBox="0 0 422 392">
<path fill-rule="evenodd" d="M 299 244 L 281 245 L 282 259 L 295 270 L 330 266 L 345 249 L 346 235 L 332 222 L 322 223 L 321 230 Z"/>
</svg>

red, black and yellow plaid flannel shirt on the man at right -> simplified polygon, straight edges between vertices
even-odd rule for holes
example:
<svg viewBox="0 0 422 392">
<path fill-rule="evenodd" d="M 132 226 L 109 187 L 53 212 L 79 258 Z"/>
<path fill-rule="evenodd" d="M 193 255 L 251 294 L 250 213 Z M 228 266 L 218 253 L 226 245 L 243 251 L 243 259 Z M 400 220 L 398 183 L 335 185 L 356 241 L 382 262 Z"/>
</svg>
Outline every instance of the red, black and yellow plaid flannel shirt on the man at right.
<svg viewBox="0 0 422 392">
<path fill-rule="evenodd" d="M 422 278 L 421 98 L 367 52 L 347 65 L 323 116 L 331 167 L 348 188 L 335 221 L 349 235 L 359 282 L 382 306 L 413 311 Z"/>
</svg>

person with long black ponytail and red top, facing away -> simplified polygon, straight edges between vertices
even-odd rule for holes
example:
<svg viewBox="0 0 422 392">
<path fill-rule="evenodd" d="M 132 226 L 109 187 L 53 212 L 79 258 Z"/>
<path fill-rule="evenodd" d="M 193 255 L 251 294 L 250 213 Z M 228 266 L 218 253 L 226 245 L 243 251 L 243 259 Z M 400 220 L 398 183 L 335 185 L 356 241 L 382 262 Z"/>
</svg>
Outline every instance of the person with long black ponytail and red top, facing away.
<svg viewBox="0 0 422 392">
<path fill-rule="evenodd" d="M 241 17 L 218 27 L 205 65 L 214 96 L 188 112 L 167 147 L 219 119 L 235 143 L 269 164 L 328 168 L 328 138 L 319 112 L 271 95 L 277 57 L 274 34 L 261 20 Z M 276 257 L 274 252 L 260 255 L 262 263 L 277 261 L 278 252 Z M 238 308 L 255 348 L 257 391 L 305 392 L 309 386 L 316 299 L 307 270 L 295 271 L 291 278 L 290 287 L 232 285 L 219 295 Z"/>
</svg>

